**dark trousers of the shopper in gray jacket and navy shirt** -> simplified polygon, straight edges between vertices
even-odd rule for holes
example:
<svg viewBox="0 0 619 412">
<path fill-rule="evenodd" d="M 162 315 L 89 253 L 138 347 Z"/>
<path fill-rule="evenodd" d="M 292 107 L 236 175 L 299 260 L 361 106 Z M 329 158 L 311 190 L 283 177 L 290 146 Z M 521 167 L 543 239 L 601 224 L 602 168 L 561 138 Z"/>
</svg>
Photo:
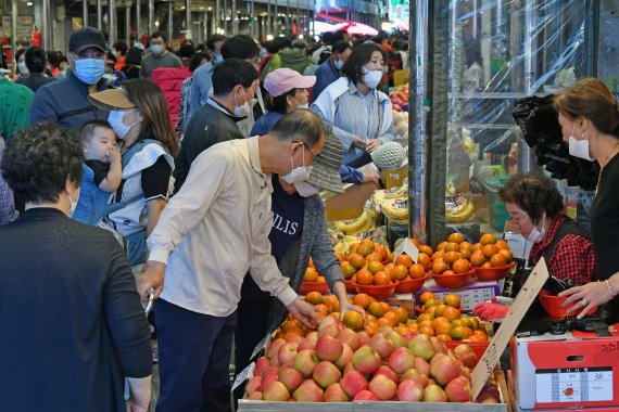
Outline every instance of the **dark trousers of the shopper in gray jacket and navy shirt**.
<svg viewBox="0 0 619 412">
<path fill-rule="evenodd" d="M 241 286 L 241 300 L 237 309 L 237 332 L 235 334 L 235 371 L 239 374 L 251 361 L 254 348 L 264 337 L 268 329 L 270 295 L 255 284 L 251 275 L 247 275 Z M 245 385 L 235 390 L 235 402 L 243 397 Z"/>
</svg>

